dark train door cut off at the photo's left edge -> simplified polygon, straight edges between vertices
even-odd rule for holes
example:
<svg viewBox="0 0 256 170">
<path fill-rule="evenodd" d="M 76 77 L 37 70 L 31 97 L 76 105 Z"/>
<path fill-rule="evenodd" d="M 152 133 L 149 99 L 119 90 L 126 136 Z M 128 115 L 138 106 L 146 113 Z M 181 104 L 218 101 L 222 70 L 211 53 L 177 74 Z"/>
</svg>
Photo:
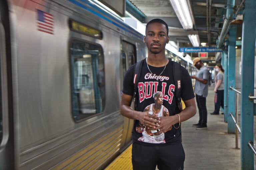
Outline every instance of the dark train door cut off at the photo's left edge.
<svg viewBox="0 0 256 170">
<path fill-rule="evenodd" d="M 5 1 L 0 2 L 0 169 L 14 169 L 14 140 L 12 117 L 8 113 L 8 86 L 6 62 L 6 31 L 8 7 Z M 5 27 L 4 27 L 5 26 Z"/>
</svg>

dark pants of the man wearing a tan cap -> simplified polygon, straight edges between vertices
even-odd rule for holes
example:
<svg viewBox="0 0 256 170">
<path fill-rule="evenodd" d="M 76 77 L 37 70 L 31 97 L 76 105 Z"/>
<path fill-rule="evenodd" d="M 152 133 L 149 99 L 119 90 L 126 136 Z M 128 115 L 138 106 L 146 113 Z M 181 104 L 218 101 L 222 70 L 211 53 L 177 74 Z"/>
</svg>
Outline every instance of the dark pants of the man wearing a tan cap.
<svg viewBox="0 0 256 170">
<path fill-rule="evenodd" d="M 206 97 L 196 94 L 196 103 L 199 111 L 199 124 L 207 124 L 207 109 L 206 109 Z"/>
</svg>

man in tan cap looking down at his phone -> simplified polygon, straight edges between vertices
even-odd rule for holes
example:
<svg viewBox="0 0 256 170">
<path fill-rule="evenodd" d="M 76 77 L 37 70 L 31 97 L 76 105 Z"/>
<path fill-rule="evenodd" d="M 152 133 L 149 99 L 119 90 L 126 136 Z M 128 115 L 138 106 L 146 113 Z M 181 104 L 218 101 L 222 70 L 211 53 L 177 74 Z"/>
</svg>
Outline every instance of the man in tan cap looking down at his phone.
<svg viewBox="0 0 256 170">
<path fill-rule="evenodd" d="M 206 129 L 207 128 L 207 109 L 206 109 L 206 97 L 208 95 L 208 68 L 204 65 L 199 57 L 193 59 L 193 65 L 199 71 L 196 76 L 191 76 L 192 79 L 196 79 L 194 86 L 194 92 L 196 94 L 196 102 L 199 111 L 199 122 L 193 124 L 196 129 Z"/>
</svg>

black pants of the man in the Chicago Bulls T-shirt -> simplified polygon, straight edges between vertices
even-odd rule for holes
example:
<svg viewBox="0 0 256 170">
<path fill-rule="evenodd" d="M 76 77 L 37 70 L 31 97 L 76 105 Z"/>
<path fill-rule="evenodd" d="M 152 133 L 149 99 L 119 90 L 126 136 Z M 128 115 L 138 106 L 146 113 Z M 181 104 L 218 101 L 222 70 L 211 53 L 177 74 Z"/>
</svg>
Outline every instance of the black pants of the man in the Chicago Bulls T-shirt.
<svg viewBox="0 0 256 170">
<path fill-rule="evenodd" d="M 157 144 L 156 144 L 157 145 Z M 183 170 L 185 152 L 182 143 L 162 146 L 132 144 L 133 170 Z"/>
</svg>

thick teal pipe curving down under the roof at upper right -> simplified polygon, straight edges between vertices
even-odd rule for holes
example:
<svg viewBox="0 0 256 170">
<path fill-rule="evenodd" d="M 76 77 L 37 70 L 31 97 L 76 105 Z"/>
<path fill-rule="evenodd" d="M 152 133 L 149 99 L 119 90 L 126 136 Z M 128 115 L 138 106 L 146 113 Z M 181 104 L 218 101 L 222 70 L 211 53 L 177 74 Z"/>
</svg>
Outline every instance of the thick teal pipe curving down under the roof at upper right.
<svg viewBox="0 0 256 170">
<path fill-rule="evenodd" d="M 235 5 L 235 0 L 228 0 L 227 2 L 227 12 L 226 12 L 226 17 L 224 19 L 223 27 L 219 36 L 219 39 L 217 41 L 217 48 L 220 48 L 224 38 L 226 37 L 229 28 L 230 28 L 230 23 L 233 19 L 234 15 L 234 5 Z"/>
</svg>

